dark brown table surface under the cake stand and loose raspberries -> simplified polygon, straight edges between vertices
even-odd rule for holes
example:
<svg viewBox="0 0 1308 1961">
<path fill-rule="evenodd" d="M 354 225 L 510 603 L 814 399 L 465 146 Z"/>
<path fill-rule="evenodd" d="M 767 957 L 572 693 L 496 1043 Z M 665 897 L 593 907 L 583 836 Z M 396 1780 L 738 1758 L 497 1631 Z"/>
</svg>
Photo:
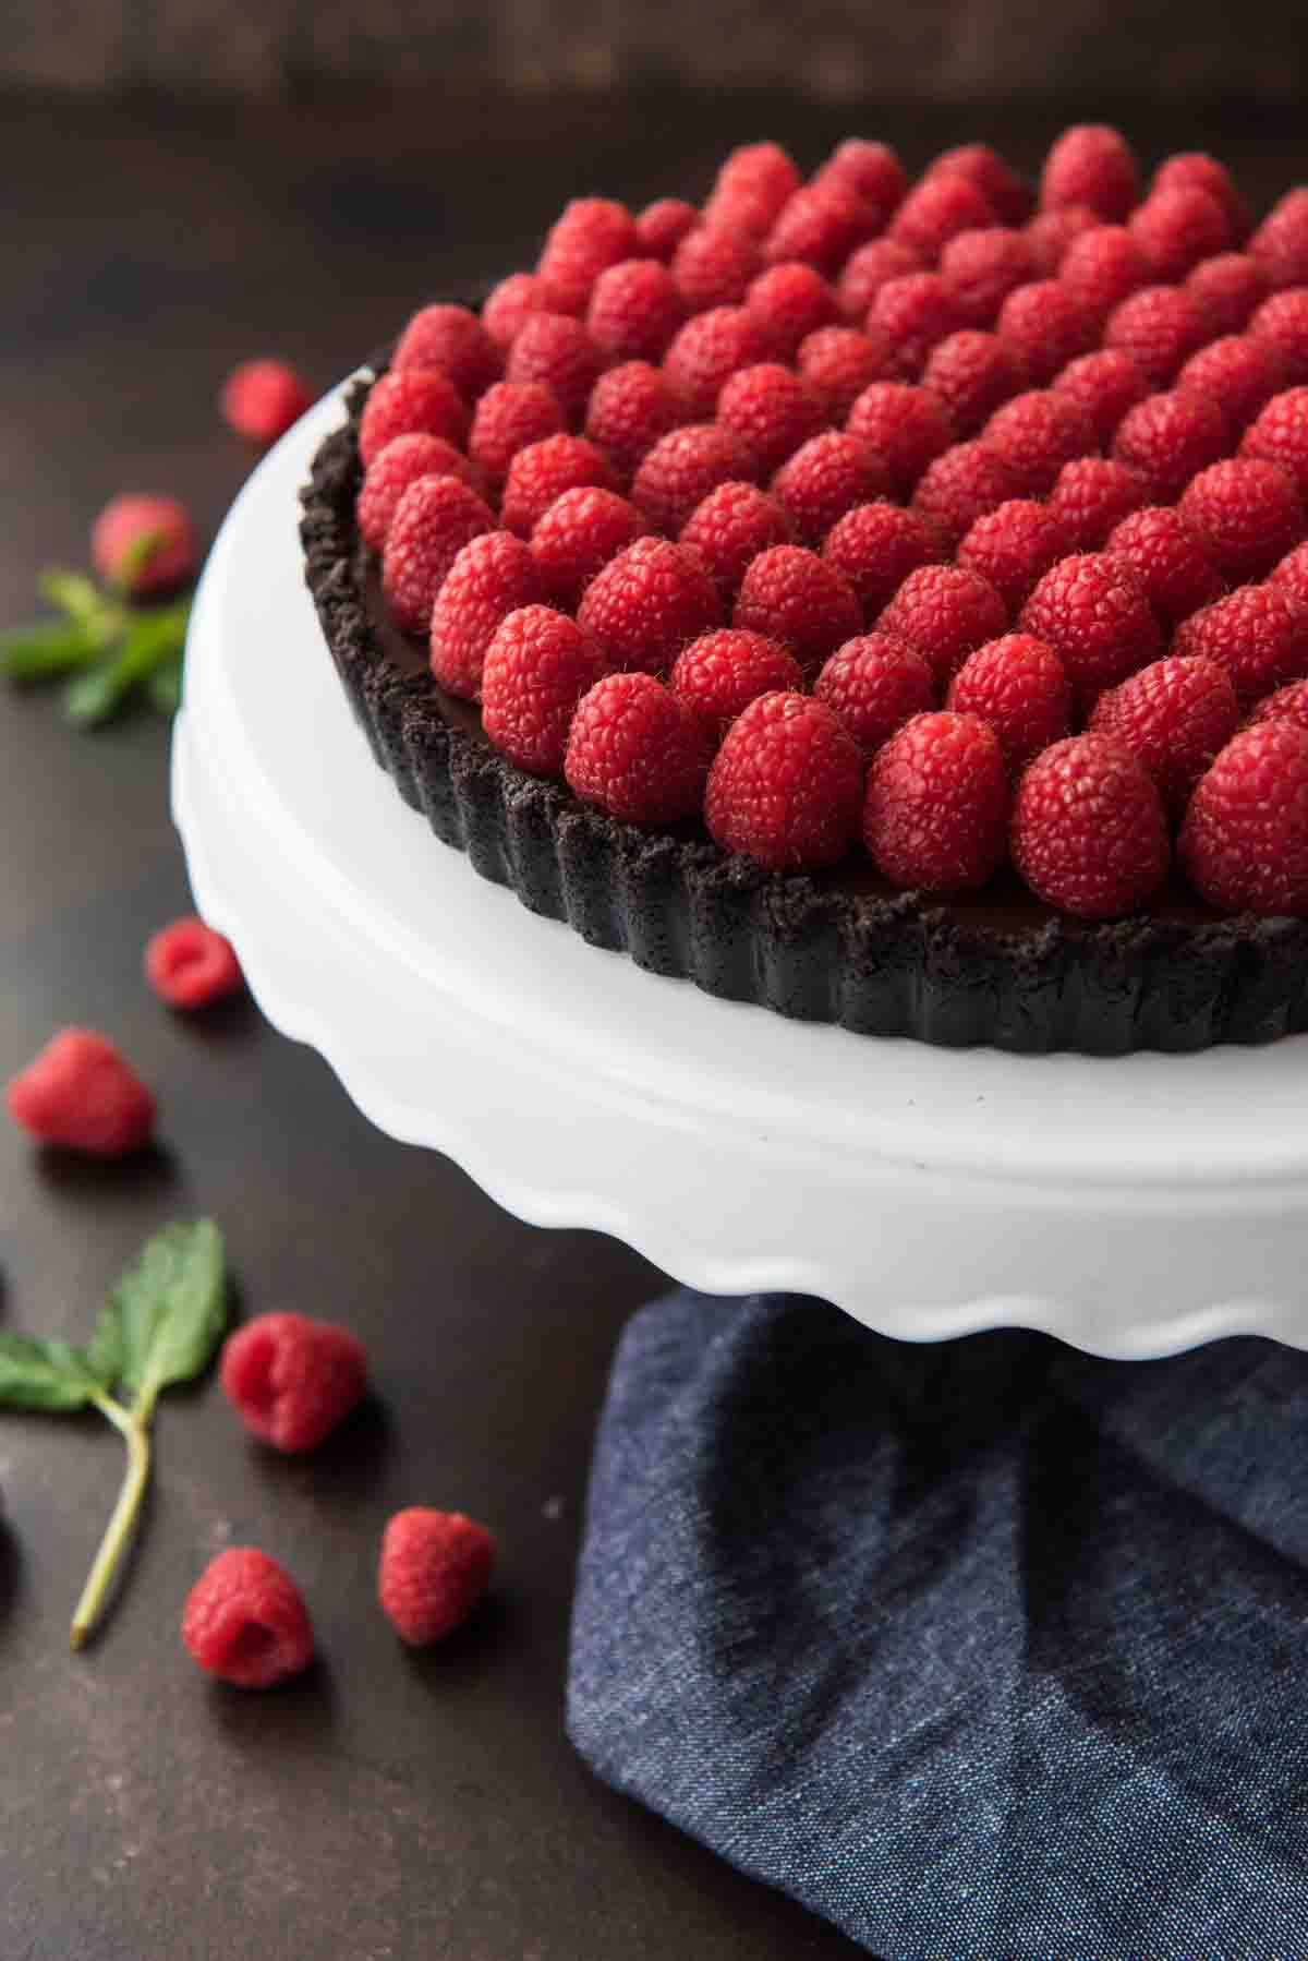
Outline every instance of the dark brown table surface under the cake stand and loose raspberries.
<svg viewBox="0 0 1308 1961">
<path fill-rule="evenodd" d="M 1237 145 L 1267 198 L 1300 163 L 1249 124 L 1130 120 L 1149 155 Z M 1004 126 L 669 94 L 10 100 L 0 618 L 31 610 L 37 565 L 84 557 L 120 488 L 178 492 L 212 531 L 249 465 L 214 414 L 233 361 L 282 351 L 326 386 L 426 294 L 528 263 L 573 192 L 698 190 L 759 133 L 812 163 L 849 129 L 888 131 L 918 163 Z M 1012 153 L 1031 163 L 1057 126 L 1028 114 Z M 163 1106 L 159 1151 L 120 1167 L 45 1161 L 0 1124 L 0 1326 L 80 1337 L 151 1228 L 210 1212 L 237 1312 L 353 1324 L 377 1394 L 306 1461 L 247 1443 L 212 1381 L 169 1398 L 131 1584 L 76 1659 L 67 1620 L 118 1443 L 98 1422 L 0 1420 L 0 1955 L 855 1953 L 600 1786 L 563 1737 L 592 1426 L 661 1277 L 612 1239 L 522 1226 L 453 1163 L 378 1135 L 253 1002 L 200 1022 L 155 1004 L 143 941 L 188 906 L 165 775 L 149 716 L 82 735 L 47 696 L 0 698 L 0 1075 L 84 1022 Z M 380 1528 L 412 1502 L 500 1539 L 492 1606 L 429 1657 L 373 1598 Z M 204 1683 L 178 1643 L 186 1588 L 227 1541 L 282 1557 L 312 1604 L 322 1661 L 275 1696 Z"/>
</svg>

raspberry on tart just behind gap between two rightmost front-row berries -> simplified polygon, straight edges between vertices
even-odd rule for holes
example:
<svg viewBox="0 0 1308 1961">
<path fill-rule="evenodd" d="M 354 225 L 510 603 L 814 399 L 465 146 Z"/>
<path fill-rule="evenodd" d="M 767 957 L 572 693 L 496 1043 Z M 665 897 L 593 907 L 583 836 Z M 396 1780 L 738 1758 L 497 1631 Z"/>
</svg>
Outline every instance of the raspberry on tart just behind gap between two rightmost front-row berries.
<svg viewBox="0 0 1308 1961">
<path fill-rule="evenodd" d="M 1190 790 L 1235 733 L 1235 684 L 1218 661 L 1173 655 L 1100 694 L 1090 728 L 1137 755 L 1179 822 Z"/>
</svg>

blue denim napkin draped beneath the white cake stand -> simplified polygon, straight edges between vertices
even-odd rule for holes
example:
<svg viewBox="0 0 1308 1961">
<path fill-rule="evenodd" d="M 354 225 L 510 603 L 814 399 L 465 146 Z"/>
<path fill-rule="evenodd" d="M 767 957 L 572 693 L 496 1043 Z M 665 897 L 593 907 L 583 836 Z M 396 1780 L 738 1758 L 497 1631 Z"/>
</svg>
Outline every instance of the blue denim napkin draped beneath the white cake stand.
<svg viewBox="0 0 1308 1961">
<path fill-rule="evenodd" d="M 1306 1561 L 1306 1355 L 679 1292 L 614 1369 L 569 1734 L 884 1961 L 1302 1961 Z"/>
</svg>

